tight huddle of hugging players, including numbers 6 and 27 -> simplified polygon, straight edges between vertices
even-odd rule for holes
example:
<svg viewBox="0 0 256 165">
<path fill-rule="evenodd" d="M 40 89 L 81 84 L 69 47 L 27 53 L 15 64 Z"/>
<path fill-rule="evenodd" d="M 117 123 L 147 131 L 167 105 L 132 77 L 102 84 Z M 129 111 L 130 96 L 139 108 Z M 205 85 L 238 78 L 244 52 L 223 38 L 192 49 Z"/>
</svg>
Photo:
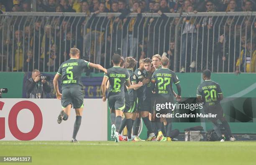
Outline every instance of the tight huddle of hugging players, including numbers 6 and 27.
<svg viewBox="0 0 256 165">
<path fill-rule="evenodd" d="M 107 70 L 102 80 L 103 101 L 108 93 L 108 104 L 115 117 L 110 117 L 111 139 L 119 142 L 123 128 L 127 128 L 127 141 L 142 141 L 138 137 L 141 118 L 148 129 L 146 141 L 171 141 L 172 123 L 169 118 L 159 118 L 154 114 L 157 103 L 174 102 L 181 99 L 181 87 L 176 74 L 169 70 L 169 59 L 156 54 L 139 61 L 139 68 L 133 72 L 137 61 L 133 57 L 123 59 L 120 55 L 112 56 L 113 67 Z M 108 85 L 109 84 L 109 85 Z M 178 94 L 172 89 L 177 86 Z M 163 109 L 159 113 L 168 113 Z M 122 116 L 124 114 L 124 119 Z M 162 123 L 165 125 L 165 136 Z M 155 131 L 155 128 L 157 131 Z M 132 134 L 133 129 L 133 136 Z M 156 133 L 155 133 L 156 132 Z M 156 137 L 157 134 L 157 137 Z"/>
</svg>

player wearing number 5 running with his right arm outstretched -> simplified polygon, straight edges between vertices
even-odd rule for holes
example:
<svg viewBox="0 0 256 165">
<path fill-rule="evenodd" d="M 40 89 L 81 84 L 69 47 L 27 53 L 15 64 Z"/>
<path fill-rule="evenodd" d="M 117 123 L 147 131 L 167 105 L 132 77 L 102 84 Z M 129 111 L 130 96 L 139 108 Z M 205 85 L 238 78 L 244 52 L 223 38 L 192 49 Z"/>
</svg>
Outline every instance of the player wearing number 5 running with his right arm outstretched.
<svg viewBox="0 0 256 165">
<path fill-rule="evenodd" d="M 54 77 L 54 89 L 57 99 L 61 99 L 62 110 L 58 116 L 57 122 L 67 120 L 72 106 L 76 111 L 76 121 L 71 142 L 77 142 L 76 136 L 81 125 L 82 110 L 84 108 L 83 85 L 81 74 L 84 69 L 95 68 L 107 73 L 107 69 L 99 64 L 90 63 L 79 59 L 80 51 L 77 48 L 71 48 L 69 52 L 70 59 L 61 63 L 57 74 Z M 58 79 L 61 77 L 61 93 L 59 92 Z"/>
</svg>

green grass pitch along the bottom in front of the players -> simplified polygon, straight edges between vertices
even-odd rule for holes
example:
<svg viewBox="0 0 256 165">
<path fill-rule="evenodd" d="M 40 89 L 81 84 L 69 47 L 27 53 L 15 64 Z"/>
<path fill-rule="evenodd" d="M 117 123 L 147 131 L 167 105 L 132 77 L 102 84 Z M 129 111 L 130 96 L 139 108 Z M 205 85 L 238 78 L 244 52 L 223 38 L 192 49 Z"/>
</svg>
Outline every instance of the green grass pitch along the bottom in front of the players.
<svg viewBox="0 0 256 165">
<path fill-rule="evenodd" d="M 29 165 L 256 165 L 256 142 L 1 141 L 0 156 L 32 156 Z"/>
</svg>

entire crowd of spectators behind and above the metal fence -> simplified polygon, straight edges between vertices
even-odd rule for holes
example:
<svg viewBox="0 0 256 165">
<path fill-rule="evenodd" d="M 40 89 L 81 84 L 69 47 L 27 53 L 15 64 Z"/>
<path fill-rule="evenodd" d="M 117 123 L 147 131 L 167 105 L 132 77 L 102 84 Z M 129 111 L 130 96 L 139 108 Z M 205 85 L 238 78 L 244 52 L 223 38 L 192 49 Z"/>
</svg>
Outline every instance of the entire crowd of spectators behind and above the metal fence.
<svg viewBox="0 0 256 165">
<path fill-rule="evenodd" d="M 37 12 L 86 14 L 82 19 L 28 17 L 17 21 L 13 18 L 11 21 L 17 26 L 13 25 L 12 29 L 1 24 L 0 33 L 7 29 L 9 32 L 0 38 L 0 56 L 13 56 L 8 56 L 8 59 L 4 56 L 8 63 L 0 62 L 0 65 L 8 65 L 9 68 L 2 67 L 10 71 L 32 71 L 34 68 L 56 71 L 60 63 L 69 58 L 71 47 L 82 49 L 84 45 L 85 54 L 82 56 L 106 67 L 110 65 L 111 54 L 121 50 L 120 54 L 124 57 L 136 57 L 137 54 L 138 58 L 166 52 L 171 59 L 170 68 L 174 69 L 176 42 L 179 49 L 177 66 L 181 72 L 206 68 L 218 72 L 255 72 L 255 16 L 169 19 L 165 14 L 251 12 L 255 9 L 253 0 L 36 0 Z M 31 12 L 33 6 L 31 0 L 0 0 L 0 10 Z M 99 13 L 121 15 L 108 15 L 105 19 L 97 17 Z M 137 13 L 137 16 L 127 17 L 129 13 Z M 160 17 L 145 18 L 142 13 L 158 13 Z M 175 28 L 179 21 L 181 26 Z M 86 22 L 87 29 L 83 28 Z M 178 41 L 175 41 L 177 29 L 180 33 Z"/>
</svg>

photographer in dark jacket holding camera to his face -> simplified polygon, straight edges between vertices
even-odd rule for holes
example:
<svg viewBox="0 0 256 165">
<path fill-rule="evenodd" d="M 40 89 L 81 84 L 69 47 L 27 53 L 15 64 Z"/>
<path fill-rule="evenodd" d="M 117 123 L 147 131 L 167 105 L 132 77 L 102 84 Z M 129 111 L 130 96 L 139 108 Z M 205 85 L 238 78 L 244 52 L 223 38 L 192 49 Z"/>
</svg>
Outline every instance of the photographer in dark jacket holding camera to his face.
<svg viewBox="0 0 256 165">
<path fill-rule="evenodd" d="M 41 79 L 40 71 L 34 69 L 32 77 L 26 81 L 27 98 L 46 99 L 46 93 L 51 92 L 51 87 L 46 80 Z"/>
</svg>

